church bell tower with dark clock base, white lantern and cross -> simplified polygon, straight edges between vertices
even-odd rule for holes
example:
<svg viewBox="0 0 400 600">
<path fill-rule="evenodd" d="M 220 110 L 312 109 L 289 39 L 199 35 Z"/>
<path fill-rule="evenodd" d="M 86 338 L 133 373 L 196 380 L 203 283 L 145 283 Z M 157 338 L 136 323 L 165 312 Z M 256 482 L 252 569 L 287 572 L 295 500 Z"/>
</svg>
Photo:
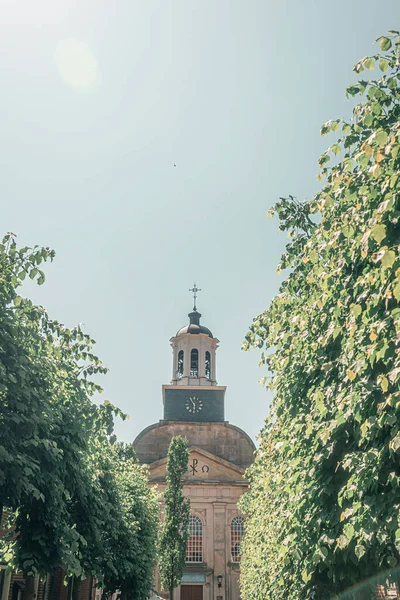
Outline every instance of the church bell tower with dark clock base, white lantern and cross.
<svg viewBox="0 0 400 600">
<path fill-rule="evenodd" d="M 171 338 L 172 380 L 163 386 L 164 420 L 223 421 L 226 387 L 216 380 L 216 351 L 219 340 L 201 325 L 196 307 L 196 284 L 189 323 Z"/>
</svg>

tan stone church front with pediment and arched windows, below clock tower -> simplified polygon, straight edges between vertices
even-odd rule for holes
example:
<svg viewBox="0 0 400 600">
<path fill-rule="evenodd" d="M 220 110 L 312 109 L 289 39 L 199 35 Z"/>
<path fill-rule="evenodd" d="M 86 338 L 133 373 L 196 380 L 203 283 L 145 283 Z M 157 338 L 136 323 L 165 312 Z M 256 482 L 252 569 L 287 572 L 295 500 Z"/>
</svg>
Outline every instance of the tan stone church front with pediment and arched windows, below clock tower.
<svg viewBox="0 0 400 600">
<path fill-rule="evenodd" d="M 174 435 L 183 435 L 189 440 L 190 458 L 183 493 L 190 497 L 191 514 L 199 517 L 202 524 L 201 557 L 186 563 L 174 600 L 185 599 L 182 588 L 194 585 L 202 588 L 201 600 L 218 597 L 239 600 L 239 562 L 234 548 L 236 537 L 235 533 L 232 536 L 231 528 L 232 520 L 240 515 L 237 503 L 247 489 L 243 475 L 245 467 L 251 464 L 254 446 L 244 432 L 226 422 L 185 426 L 182 422 L 161 421 L 149 427 L 134 445 L 141 462 L 149 464 L 150 481 L 157 485 L 161 495 L 165 489 L 166 454 Z M 218 575 L 222 575 L 221 587 L 218 587 Z M 158 575 L 155 587 L 163 591 Z"/>
</svg>

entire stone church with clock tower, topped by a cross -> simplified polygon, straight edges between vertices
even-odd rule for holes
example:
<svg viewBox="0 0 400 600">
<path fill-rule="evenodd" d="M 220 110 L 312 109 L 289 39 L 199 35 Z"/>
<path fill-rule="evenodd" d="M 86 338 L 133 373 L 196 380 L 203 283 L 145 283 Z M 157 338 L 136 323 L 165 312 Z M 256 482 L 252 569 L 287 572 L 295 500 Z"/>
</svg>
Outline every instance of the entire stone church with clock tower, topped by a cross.
<svg viewBox="0 0 400 600">
<path fill-rule="evenodd" d="M 149 465 L 151 484 L 162 493 L 169 443 L 175 435 L 189 442 L 184 476 L 190 497 L 190 537 L 186 567 L 173 600 L 239 600 L 240 540 L 244 522 L 237 503 L 248 483 L 244 472 L 253 461 L 254 444 L 239 427 L 225 420 L 226 387 L 217 384 L 219 340 L 201 325 L 194 307 L 189 324 L 171 338 L 172 380 L 162 386 L 163 418 L 144 429 L 134 447 Z M 158 575 L 155 588 L 160 590 Z"/>
</svg>

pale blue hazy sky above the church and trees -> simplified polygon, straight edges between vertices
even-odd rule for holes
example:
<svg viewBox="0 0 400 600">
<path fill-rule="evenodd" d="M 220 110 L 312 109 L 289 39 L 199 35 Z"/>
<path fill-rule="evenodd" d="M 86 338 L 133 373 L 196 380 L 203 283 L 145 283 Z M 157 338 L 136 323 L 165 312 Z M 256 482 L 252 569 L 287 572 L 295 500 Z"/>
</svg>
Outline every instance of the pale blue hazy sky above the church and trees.
<svg viewBox="0 0 400 600">
<path fill-rule="evenodd" d="M 267 209 L 318 189 L 320 125 L 399 26 L 399 0 L 0 0 L 2 231 L 56 250 L 27 293 L 97 339 L 122 439 L 162 417 L 194 281 L 226 418 L 260 430 L 270 396 L 240 346 L 280 281 Z M 62 78 L 71 38 L 88 87 Z"/>
</svg>

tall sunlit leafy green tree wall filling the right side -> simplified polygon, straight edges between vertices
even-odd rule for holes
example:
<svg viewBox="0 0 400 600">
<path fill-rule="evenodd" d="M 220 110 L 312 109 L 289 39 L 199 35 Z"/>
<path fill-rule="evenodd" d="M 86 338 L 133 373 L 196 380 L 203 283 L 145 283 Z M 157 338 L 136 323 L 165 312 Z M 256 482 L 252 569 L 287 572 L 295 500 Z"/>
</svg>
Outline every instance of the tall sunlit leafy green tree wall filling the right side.
<svg viewBox="0 0 400 600">
<path fill-rule="evenodd" d="M 272 211 L 290 274 L 244 344 L 275 393 L 242 500 L 246 600 L 327 599 L 400 562 L 399 33 L 377 42 L 353 118 L 322 127 L 321 191 Z"/>
</svg>

